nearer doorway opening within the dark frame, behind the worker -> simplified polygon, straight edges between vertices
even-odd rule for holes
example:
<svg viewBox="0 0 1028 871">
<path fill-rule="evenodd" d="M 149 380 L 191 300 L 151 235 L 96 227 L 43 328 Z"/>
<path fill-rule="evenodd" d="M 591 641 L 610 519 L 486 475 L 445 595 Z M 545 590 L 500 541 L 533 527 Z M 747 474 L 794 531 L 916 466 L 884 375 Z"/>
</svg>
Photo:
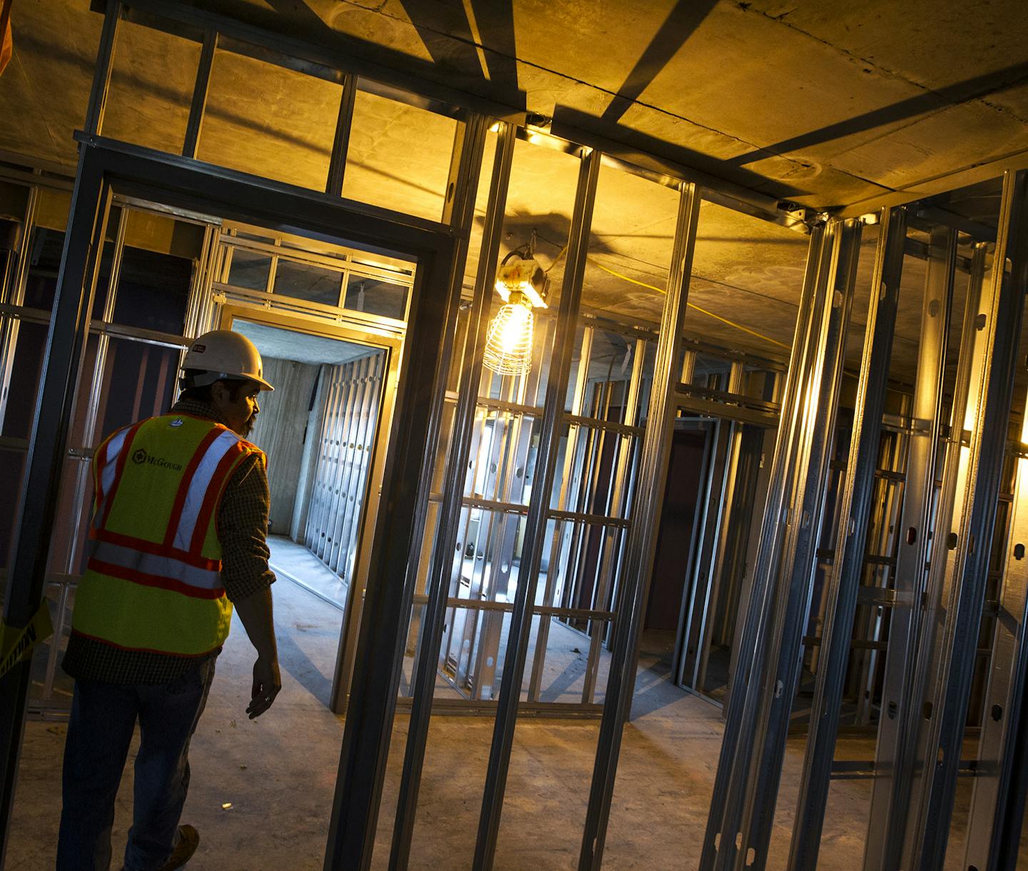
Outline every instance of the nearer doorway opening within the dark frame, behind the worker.
<svg viewBox="0 0 1028 871">
<path fill-rule="evenodd" d="M 38 263 L 25 279 L 21 330 L 4 346 L 12 361 L 6 380 L 24 388 L 0 403 L 0 421 L 24 431 L 23 439 L 7 440 L 19 448 L 20 462 L 7 472 L 14 488 L 63 235 L 34 228 Z M 316 603 L 298 611 L 313 619 L 294 621 L 306 689 L 333 712 L 344 710 L 363 597 L 355 592 L 364 588 L 361 554 L 372 538 L 365 520 L 373 520 L 378 501 L 413 278 L 411 262 L 384 252 L 115 199 L 61 478 L 58 514 L 68 522 L 56 525 L 48 548 L 45 595 L 54 633 L 33 657 L 36 715 L 63 718 L 70 707 L 72 685 L 61 660 L 85 568 L 95 448 L 114 430 L 166 412 L 178 394 L 184 349 L 215 328 L 250 337 L 277 388 L 262 395 L 252 434 L 269 459 L 271 568 Z M 9 536 L 0 536 L 0 551 Z"/>
</svg>

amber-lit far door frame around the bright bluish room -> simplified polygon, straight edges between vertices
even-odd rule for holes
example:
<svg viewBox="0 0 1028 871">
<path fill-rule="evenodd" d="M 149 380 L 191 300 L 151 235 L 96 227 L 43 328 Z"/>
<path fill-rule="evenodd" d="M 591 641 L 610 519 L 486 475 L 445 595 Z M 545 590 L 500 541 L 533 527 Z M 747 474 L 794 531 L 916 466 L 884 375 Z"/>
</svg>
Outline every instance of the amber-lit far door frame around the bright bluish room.
<svg viewBox="0 0 1028 871">
<path fill-rule="evenodd" d="M 378 515 L 382 473 L 386 464 L 386 439 L 382 438 L 382 433 L 389 433 L 393 426 L 404 340 L 381 332 L 362 330 L 351 325 L 308 320 L 274 310 L 240 304 L 221 305 L 217 317 L 218 329 L 231 329 L 235 319 L 254 321 L 307 335 L 320 335 L 339 341 L 348 341 L 351 344 L 361 344 L 369 350 L 384 351 L 387 354 L 386 377 L 382 379 L 373 436 L 372 458 L 366 483 L 367 497 L 359 520 L 360 529 L 357 536 L 354 577 L 346 592 L 342 628 L 339 632 L 339 647 L 332 670 L 332 692 L 329 695 L 331 712 L 345 714 L 353 680 L 354 656 L 357 652 L 357 628 L 360 625 L 361 605 L 367 589 L 368 565 L 376 532 L 374 523 L 369 522 L 368 518 Z"/>
</svg>

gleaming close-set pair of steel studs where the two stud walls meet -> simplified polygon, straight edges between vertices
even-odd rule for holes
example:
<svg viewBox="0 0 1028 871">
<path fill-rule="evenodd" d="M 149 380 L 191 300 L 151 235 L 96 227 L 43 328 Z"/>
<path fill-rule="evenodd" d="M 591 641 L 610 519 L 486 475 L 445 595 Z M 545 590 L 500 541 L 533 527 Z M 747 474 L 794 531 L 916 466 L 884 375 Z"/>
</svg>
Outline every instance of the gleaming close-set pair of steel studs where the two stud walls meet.
<svg viewBox="0 0 1028 871">
<path fill-rule="evenodd" d="M 775 701 L 786 715 L 792 702 L 794 684 L 786 680 L 778 686 L 774 679 L 779 661 L 790 665 L 777 655 L 778 643 L 785 632 L 795 641 L 802 628 L 788 620 L 796 620 L 797 606 L 802 605 L 797 600 L 806 591 L 806 560 L 819 525 L 821 503 L 816 497 L 823 480 L 817 478 L 818 467 L 825 446 L 825 420 L 831 423 L 834 414 L 835 379 L 841 374 L 840 350 L 858 240 L 856 227 L 840 221 L 811 234 L 804 304 L 797 319 L 757 567 L 740 633 L 739 650 L 744 653 L 728 703 L 702 869 L 731 868 L 737 857 L 745 856 L 744 827 L 754 809 L 755 788 L 760 786 L 755 781 L 761 774 L 755 753 L 759 762 Z M 774 747 L 770 750 L 775 752 Z"/>
</svg>

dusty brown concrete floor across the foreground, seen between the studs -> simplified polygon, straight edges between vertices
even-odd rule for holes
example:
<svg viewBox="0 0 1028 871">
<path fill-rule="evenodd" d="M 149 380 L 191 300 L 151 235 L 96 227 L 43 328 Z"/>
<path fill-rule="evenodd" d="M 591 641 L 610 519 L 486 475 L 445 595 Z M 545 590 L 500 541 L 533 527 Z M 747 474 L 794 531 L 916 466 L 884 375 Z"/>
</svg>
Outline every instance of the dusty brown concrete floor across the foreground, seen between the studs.
<svg viewBox="0 0 1028 871">
<path fill-rule="evenodd" d="M 334 655 L 338 612 L 288 582 L 276 584 L 274 596 L 283 691 L 266 715 L 246 719 L 253 650 L 235 625 L 192 743 L 193 782 L 183 819 L 197 826 L 201 842 L 190 869 L 322 867 L 342 721 L 326 707 L 330 676 L 319 663 Z M 375 867 L 386 866 L 406 728 L 405 718 L 398 717 Z M 491 721 L 477 718 L 434 719 L 411 868 L 470 866 L 491 729 Z M 63 724 L 28 724 L 8 871 L 52 867 L 65 731 Z M 634 719 L 625 730 L 605 867 L 696 867 L 721 732 L 715 707 L 671 686 L 666 667 L 644 657 Z M 594 721 L 519 723 L 497 868 L 575 867 L 596 736 Z M 864 758 L 872 750 L 867 739 L 846 740 L 840 756 Z M 784 866 L 801 754 L 802 741 L 794 742 L 769 868 Z M 131 822 L 131 781 L 126 770 L 115 855 Z M 869 786 L 833 783 L 820 869 L 859 867 Z M 959 867 L 961 858 L 951 856 L 948 867 Z M 1028 849 L 1023 858 L 1028 868 Z"/>
</svg>

